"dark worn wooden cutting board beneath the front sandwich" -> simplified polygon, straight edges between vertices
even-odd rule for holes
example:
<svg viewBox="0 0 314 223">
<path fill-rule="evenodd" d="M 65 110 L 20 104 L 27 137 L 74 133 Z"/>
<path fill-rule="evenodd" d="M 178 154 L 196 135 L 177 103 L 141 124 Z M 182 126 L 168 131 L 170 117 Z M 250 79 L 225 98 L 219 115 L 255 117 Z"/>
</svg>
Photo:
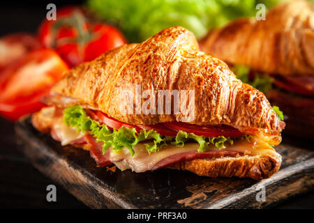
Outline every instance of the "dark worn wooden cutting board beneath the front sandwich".
<svg viewBox="0 0 314 223">
<path fill-rule="evenodd" d="M 91 208 L 268 208 L 314 189 L 314 149 L 307 144 L 304 148 L 285 142 L 277 146 L 283 155 L 280 171 L 255 181 L 208 178 L 172 169 L 141 174 L 111 171 L 96 167 L 88 151 L 61 146 L 41 134 L 30 118 L 17 123 L 15 131 L 33 166 Z M 257 201 L 263 190 L 265 201 Z"/>
</svg>

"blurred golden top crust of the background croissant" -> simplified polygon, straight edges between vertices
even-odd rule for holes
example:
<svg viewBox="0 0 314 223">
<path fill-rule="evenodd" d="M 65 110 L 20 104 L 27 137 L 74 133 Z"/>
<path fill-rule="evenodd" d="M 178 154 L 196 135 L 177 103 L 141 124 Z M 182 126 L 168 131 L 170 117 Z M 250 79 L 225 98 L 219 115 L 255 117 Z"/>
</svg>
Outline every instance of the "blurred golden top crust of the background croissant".
<svg viewBox="0 0 314 223">
<path fill-rule="evenodd" d="M 266 20 L 241 18 L 210 31 L 200 48 L 231 64 L 280 75 L 314 75 L 314 13 L 308 1 L 269 10 Z"/>
</svg>

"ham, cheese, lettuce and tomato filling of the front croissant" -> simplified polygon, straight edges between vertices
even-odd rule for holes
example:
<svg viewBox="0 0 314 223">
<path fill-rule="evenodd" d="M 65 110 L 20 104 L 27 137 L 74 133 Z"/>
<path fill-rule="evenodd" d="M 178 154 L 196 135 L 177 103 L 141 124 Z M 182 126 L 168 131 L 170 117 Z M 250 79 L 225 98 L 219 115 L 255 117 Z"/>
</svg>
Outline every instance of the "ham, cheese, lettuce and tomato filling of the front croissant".
<svg viewBox="0 0 314 223">
<path fill-rule="evenodd" d="M 144 172 L 195 159 L 277 156 L 263 139 L 228 127 L 204 132 L 205 136 L 189 130 L 188 124 L 179 130 L 174 123 L 130 125 L 104 116 L 80 105 L 66 109 L 52 106 L 34 114 L 33 125 L 42 132 L 50 131 L 63 146 L 87 148 L 98 166 L 115 164 L 122 171 Z"/>
</svg>

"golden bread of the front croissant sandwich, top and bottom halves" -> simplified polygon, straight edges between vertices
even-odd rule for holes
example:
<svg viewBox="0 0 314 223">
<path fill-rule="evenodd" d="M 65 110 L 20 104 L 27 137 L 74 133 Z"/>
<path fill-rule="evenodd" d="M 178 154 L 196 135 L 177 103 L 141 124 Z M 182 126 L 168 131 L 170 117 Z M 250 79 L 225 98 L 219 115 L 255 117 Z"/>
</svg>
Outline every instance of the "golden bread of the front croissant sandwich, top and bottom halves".
<svg viewBox="0 0 314 223">
<path fill-rule="evenodd" d="M 137 114 L 134 101 L 132 111 L 122 112 L 120 107 L 126 98 L 121 91 L 128 89 L 135 92 L 139 85 L 141 92 L 149 90 L 155 95 L 158 95 L 160 90 L 193 90 L 193 118 L 184 119 L 188 118 L 190 110 L 186 114 L 175 114 L 173 111 L 171 114 Z M 190 102 L 190 98 L 188 100 Z M 252 86 L 243 84 L 223 61 L 200 52 L 193 33 L 183 27 L 164 29 L 143 43 L 123 45 L 94 61 L 80 64 L 69 70 L 66 76 L 52 87 L 44 102 L 50 105 L 48 109 L 54 108 L 54 112 L 48 114 L 45 108 L 33 114 L 33 125 L 43 132 L 60 129 L 51 127 L 54 116 L 58 113 L 56 111 L 72 105 L 81 105 L 89 114 L 99 111 L 102 116 L 112 117 L 117 122 L 126 123 L 125 125 L 157 126 L 160 123 L 188 120 L 186 123 L 199 128 L 228 125 L 239 130 L 241 134 L 257 137 L 256 147 L 253 146 L 255 149 L 251 151 L 246 151 L 247 147 L 235 143 L 233 147 L 223 151 L 214 149 L 205 153 L 195 153 L 195 147 L 190 144 L 192 147 L 184 148 L 167 145 L 161 151 L 150 155 L 141 152 L 144 150 L 143 146 L 134 146 L 134 157 L 121 158 L 119 154 L 112 157 L 110 152 L 109 155 L 107 152 L 103 154 L 103 157 L 110 156 L 111 161 L 121 170 L 127 169 L 127 162 L 134 171 L 143 171 L 141 168 L 144 165 L 139 165 L 139 160 L 143 157 L 147 160 L 149 156 L 154 157 L 149 164 L 145 161 L 149 170 L 170 167 L 186 169 L 204 176 L 262 179 L 274 174 L 281 165 L 281 155 L 267 144 L 280 143 L 284 123 L 278 119 L 265 95 Z M 140 102 L 142 105 L 144 98 L 140 98 Z M 158 96 L 151 107 L 154 105 L 158 107 Z M 102 118 L 97 120 L 101 121 Z M 52 137 L 54 135 L 55 132 Z M 259 146 L 259 139 L 264 141 L 261 145 L 267 145 L 266 148 Z M 91 137 L 87 141 L 92 145 L 87 146 L 87 149 L 91 151 L 96 162 L 100 166 L 107 164 L 102 161 L 101 155 L 99 157 L 92 151 L 97 143 L 93 142 Z M 246 144 L 243 141 L 241 143 Z M 178 152 L 180 149 L 186 150 L 184 154 L 188 155 L 182 157 L 183 152 Z M 163 160 L 152 166 L 158 155 L 163 156 Z M 124 162 L 121 162 L 121 159 Z"/>
</svg>

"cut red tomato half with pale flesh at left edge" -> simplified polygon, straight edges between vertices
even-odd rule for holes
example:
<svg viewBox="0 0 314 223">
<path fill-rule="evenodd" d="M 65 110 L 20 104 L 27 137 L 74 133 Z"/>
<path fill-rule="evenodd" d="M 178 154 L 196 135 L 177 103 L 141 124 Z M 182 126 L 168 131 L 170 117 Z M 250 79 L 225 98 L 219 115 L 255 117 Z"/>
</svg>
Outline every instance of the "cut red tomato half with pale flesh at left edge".
<svg viewBox="0 0 314 223">
<path fill-rule="evenodd" d="M 36 49 L 8 66 L 0 77 L 0 114 L 13 121 L 36 112 L 40 98 L 68 70 L 52 49 Z"/>
</svg>

